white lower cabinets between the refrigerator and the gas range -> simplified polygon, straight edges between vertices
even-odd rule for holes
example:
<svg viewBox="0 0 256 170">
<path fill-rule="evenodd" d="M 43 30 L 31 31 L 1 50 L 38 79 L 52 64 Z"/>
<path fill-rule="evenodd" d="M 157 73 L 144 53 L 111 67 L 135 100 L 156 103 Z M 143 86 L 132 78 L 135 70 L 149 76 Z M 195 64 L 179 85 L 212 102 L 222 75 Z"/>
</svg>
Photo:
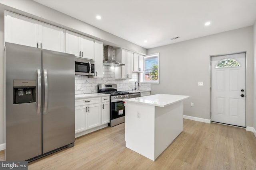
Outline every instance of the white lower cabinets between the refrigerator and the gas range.
<svg viewBox="0 0 256 170">
<path fill-rule="evenodd" d="M 75 134 L 86 135 L 107 127 L 110 122 L 109 96 L 75 100 Z"/>
</svg>

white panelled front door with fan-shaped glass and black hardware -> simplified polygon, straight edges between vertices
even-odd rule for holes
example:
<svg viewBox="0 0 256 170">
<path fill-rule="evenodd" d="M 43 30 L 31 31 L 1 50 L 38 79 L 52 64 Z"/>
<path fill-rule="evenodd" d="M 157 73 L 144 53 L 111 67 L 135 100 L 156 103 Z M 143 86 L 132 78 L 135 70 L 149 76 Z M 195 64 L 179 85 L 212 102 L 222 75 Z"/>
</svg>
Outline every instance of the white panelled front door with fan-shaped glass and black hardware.
<svg viewBox="0 0 256 170">
<path fill-rule="evenodd" d="M 245 127 L 245 53 L 211 57 L 211 121 Z"/>
</svg>

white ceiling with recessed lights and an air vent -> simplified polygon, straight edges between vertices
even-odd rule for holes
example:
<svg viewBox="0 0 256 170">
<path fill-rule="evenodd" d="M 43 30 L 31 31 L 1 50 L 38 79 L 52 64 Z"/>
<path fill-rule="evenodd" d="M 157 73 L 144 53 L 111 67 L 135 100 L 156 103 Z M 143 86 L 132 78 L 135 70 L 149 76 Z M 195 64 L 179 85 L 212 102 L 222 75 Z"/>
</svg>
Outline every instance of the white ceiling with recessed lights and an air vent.
<svg viewBox="0 0 256 170">
<path fill-rule="evenodd" d="M 250 26 L 256 21 L 256 0 L 34 1 L 146 49 Z M 102 19 L 97 20 L 97 15 Z M 206 21 L 211 24 L 205 26 Z M 180 38 L 170 40 L 177 36 Z"/>
</svg>

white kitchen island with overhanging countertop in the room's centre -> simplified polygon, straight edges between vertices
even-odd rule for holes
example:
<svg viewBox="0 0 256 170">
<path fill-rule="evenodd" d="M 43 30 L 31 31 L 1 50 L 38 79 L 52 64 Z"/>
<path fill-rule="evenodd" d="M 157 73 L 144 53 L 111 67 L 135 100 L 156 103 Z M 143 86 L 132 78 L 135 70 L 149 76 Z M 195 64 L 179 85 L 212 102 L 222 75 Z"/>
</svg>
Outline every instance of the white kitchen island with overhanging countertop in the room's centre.
<svg viewBox="0 0 256 170">
<path fill-rule="evenodd" d="M 125 99 L 126 147 L 156 160 L 183 130 L 183 100 L 190 96 L 156 94 Z"/>
</svg>

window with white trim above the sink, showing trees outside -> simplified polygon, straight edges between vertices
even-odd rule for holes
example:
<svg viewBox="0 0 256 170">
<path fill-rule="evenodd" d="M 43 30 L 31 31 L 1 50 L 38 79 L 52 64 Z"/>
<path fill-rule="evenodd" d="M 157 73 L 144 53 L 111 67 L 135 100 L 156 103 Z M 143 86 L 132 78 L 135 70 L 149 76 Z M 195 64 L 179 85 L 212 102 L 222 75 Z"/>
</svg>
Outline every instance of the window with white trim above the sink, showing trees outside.
<svg viewBox="0 0 256 170">
<path fill-rule="evenodd" d="M 140 74 L 140 82 L 159 83 L 159 53 L 144 56 L 144 73 Z"/>
</svg>

